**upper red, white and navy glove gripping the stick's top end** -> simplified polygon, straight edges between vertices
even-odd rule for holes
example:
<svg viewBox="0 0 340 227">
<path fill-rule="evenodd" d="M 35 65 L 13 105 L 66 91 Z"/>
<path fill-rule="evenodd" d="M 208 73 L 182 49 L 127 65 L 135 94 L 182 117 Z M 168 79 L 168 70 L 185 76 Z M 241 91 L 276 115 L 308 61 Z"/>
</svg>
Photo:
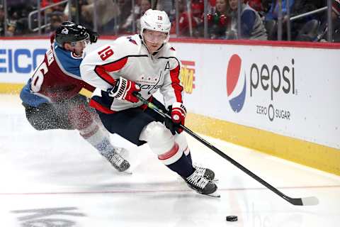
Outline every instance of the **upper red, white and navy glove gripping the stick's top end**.
<svg viewBox="0 0 340 227">
<path fill-rule="evenodd" d="M 109 96 L 116 99 L 138 102 L 139 100 L 132 94 L 133 92 L 140 92 L 140 87 L 135 82 L 123 77 L 119 77 L 115 82 L 115 87 L 108 90 Z"/>
</svg>

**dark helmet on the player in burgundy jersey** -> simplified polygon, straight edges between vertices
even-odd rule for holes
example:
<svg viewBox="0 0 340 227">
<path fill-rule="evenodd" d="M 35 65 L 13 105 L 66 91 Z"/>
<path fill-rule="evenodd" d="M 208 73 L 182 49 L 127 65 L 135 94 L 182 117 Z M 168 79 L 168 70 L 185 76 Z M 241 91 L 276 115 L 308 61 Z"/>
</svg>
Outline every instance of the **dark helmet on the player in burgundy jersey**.
<svg viewBox="0 0 340 227">
<path fill-rule="evenodd" d="M 75 45 L 81 40 L 89 41 L 89 33 L 84 26 L 72 21 L 65 21 L 55 31 L 55 40 L 60 47 L 63 47 L 64 43 Z"/>
</svg>

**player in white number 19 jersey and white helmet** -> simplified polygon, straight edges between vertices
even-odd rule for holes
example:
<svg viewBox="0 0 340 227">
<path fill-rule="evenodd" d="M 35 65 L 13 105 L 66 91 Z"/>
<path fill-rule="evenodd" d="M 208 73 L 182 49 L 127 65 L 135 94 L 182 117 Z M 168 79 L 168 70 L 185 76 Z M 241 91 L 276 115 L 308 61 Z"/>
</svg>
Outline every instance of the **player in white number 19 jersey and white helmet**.
<svg viewBox="0 0 340 227">
<path fill-rule="evenodd" d="M 80 66 L 81 77 L 96 87 L 90 105 L 108 131 L 136 145 L 148 143 L 158 159 L 189 187 L 200 194 L 212 194 L 217 189 L 212 182 L 215 174 L 192 164 L 179 127 L 179 123 L 184 124 L 186 109 L 179 80 L 181 63 L 168 43 L 170 27 L 164 11 L 149 9 L 140 18 L 140 34 L 120 37 L 86 55 Z M 157 90 L 164 105 L 152 96 Z M 134 92 L 161 106 L 171 119 L 148 109 Z"/>
</svg>

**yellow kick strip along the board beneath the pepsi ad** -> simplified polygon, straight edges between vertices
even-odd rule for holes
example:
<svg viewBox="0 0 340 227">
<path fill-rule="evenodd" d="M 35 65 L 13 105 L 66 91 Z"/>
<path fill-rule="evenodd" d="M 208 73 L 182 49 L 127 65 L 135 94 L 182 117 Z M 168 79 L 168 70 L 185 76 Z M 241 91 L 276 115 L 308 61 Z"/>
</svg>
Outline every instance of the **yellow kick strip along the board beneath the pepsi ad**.
<svg viewBox="0 0 340 227">
<path fill-rule="evenodd" d="M 340 155 L 335 148 L 198 114 L 188 114 L 186 126 L 197 133 L 340 175 Z"/>
</svg>

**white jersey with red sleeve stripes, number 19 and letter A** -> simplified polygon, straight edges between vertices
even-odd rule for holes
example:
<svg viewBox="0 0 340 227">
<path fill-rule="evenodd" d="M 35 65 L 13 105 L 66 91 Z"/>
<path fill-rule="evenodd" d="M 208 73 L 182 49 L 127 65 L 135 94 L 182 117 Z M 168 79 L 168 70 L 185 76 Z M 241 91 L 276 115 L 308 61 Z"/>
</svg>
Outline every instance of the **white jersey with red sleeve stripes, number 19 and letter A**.
<svg viewBox="0 0 340 227">
<path fill-rule="evenodd" d="M 149 99 L 159 89 L 166 107 L 175 101 L 182 102 L 180 71 L 181 62 L 169 43 L 156 55 L 150 55 L 140 35 L 120 37 L 86 55 L 80 65 L 82 79 L 96 87 L 91 106 L 107 114 L 142 106 L 141 101 L 132 103 L 108 96 L 107 90 L 113 87 L 115 79 L 119 77 L 138 84 L 140 94 L 145 99 Z"/>
</svg>

